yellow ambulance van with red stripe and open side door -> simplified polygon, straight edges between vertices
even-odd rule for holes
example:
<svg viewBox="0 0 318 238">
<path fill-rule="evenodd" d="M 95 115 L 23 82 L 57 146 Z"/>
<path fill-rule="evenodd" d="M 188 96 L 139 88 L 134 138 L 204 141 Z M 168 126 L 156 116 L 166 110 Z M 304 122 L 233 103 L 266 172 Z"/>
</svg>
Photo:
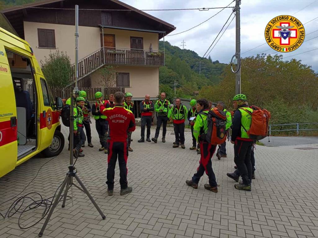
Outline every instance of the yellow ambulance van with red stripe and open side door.
<svg viewBox="0 0 318 238">
<path fill-rule="evenodd" d="M 0 177 L 42 152 L 64 148 L 59 110 L 29 43 L 0 28 Z"/>
</svg>

